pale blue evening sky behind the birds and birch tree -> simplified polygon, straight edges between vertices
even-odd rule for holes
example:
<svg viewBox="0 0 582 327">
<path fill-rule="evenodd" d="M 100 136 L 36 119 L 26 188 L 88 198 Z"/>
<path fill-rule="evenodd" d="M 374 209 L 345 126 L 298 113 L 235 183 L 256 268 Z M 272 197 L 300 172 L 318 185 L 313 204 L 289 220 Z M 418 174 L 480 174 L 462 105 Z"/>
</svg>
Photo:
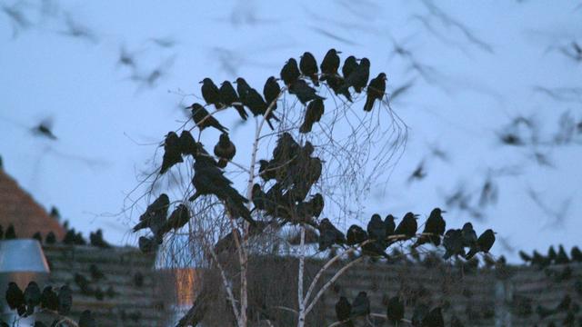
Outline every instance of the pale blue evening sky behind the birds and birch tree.
<svg viewBox="0 0 582 327">
<path fill-rule="evenodd" d="M 561 114 L 569 111 L 576 122 L 582 120 L 582 95 L 557 101 L 535 87 L 582 87 L 582 62 L 560 50 L 572 41 L 581 43 L 582 8 L 567 1 L 437 4 L 477 41 L 430 15 L 430 3 L 422 1 L 149 1 L 139 6 L 2 1 L 0 155 L 5 171 L 39 203 L 57 206 L 85 236 L 103 228 L 108 241 L 135 244 L 130 219 L 115 213 L 124 207 L 138 173 L 152 169 L 157 143 L 184 121 L 176 93 L 200 95 L 202 78 L 219 83 L 239 75 L 262 91 L 266 77 L 278 75 L 287 58 L 310 51 L 320 62 L 335 47 L 343 51 L 342 62 L 349 54 L 368 57 L 371 76 L 388 75 L 389 91 L 413 82 L 392 103 L 410 128 L 406 152 L 389 180 L 386 171 L 372 185 L 363 219 L 374 212 L 426 215 L 440 206 L 449 210 L 449 224 L 470 220 L 477 232 L 491 226 L 516 249 L 579 244 L 582 134 L 572 144 L 544 144 L 559 130 Z M 13 28 L 6 14 L 14 12 L 25 16 L 28 27 Z M 67 35 L 67 19 L 69 26 L 84 26 L 90 37 Z M 171 42 L 160 46 L 154 39 Z M 432 67 L 428 77 L 434 83 L 393 54 L 394 40 L 418 63 Z M 132 69 L 118 64 L 122 46 L 135 55 L 134 75 L 161 68 L 161 77 L 151 86 L 132 79 Z M 186 98 L 182 105 L 193 101 Z M 245 138 L 254 124 L 234 128 L 234 113 L 220 120 L 234 140 Z M 538 124 L 537 147 L 499 142 L 497 134 L 519 115 Z M 53 120 L 57 141 L 30 131 L 45 118 Z M 217 134 L 203 135 L 211 149 Z M 236 161 L 246 163 L 249 148 L 236 145 Z M 445 151 L 449 162 L 431 156 L 431 146 Z M 535 151 L 547 155 L 552 166 L 538 164 Z M 426 178 L 406 183 L 423 159 Z M 507 167 L 521 173 L 496 175 L 498 203 L 478 207 L 487 172 Z M 459 186 L 473 194 L 470 204 L 483 220 L 447 208 L 445 197 Z M 494 253 L 515 259 L 503 244 L 497 243 Z"/>
</svg>

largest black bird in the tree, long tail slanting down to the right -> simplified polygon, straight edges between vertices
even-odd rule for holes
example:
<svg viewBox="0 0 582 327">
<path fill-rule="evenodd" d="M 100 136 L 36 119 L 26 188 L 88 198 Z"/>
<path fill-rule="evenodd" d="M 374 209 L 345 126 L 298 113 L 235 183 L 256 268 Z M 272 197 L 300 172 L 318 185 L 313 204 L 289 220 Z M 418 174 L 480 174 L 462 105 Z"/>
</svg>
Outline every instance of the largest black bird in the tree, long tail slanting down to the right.
<svg viewBox="0 0 582 327">
<path fill-rule="evenodd" d="M 225 177 L 214 160 L 209 160 L 203 155 L 196 156 L 192 183 L 196 188 L 196 193 L 190 197 L 189 201 L 196 200 L 200 195 L 214 194 L 225 203 L 226 209 L 234 219 L 242 217 L 248 223 L 255 223 L 245 206 L 248 200 L 231 186 L 232 181 Z"/>
</svg>

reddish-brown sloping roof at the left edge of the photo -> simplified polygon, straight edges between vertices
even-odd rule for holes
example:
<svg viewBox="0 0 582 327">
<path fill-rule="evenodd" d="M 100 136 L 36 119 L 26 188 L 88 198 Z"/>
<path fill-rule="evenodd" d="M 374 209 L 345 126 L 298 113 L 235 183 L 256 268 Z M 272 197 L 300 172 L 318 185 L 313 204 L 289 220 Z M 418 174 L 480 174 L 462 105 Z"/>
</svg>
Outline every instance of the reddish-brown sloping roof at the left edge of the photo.
<svg viewBox="0 0 582 327">
<path fill-rule="evenodd" d="M 52 231 L 58 240 L 65 235 L 63 226 L 0 168 L 0 225 L 6 230 L 11 223 L 20 238 L 32 237 L 36 232 L 44 238 Z"/>
</svg>

